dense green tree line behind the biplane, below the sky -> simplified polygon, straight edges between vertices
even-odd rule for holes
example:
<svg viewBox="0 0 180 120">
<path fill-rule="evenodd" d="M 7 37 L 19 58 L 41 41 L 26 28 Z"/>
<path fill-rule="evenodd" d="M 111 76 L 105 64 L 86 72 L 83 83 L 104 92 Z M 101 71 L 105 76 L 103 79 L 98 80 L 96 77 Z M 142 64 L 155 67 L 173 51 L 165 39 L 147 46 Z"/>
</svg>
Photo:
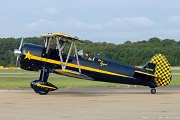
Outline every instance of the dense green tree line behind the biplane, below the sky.
<svg viewBox="0 0 180 120">
<path fill-rule="evenodd" d="M 0 38 L 0 66 L 15 66 L 14 48 L 18 49 L 21 38 Z M 25 43 L 44 45 L 39 37 L 24 38 Z M 123 44 L 106 42 L 92 42 L 84 40 L 84 44 L 77 44 L 77 49 L 88 51 L 91 57 L 95 54 L 127 63 L 130 65 L 144 65 L 153 55 L 161 53 L 166 56 L 172 66 L 180 66 L 180 41 L 173 39 L 150 38 L 137 42 L 126 41 Z"/>
</svg>

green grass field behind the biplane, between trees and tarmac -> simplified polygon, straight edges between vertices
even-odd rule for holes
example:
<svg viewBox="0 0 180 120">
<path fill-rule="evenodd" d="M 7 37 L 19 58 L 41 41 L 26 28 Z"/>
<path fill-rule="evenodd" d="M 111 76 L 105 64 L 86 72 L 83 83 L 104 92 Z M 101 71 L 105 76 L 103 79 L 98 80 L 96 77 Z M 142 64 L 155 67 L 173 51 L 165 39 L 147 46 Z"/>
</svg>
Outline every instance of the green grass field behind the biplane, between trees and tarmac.
<svg viewBox="0 0 180 120">
<path fill-rule="evenodd" d="M 172 70 L 172 81 L 170 86 L 180 86 L 180 69 Z M 39 78 L 39 72 L 30 72 L 21 69 L 5 70 L 0 69 L 0 88 L 29 88 L 30 82 Z M 16 78 L 16 76 L 24 76 L 24 78 Z M 28 78 L 26 78 L 28 76 Z M 49 82 L 55 84 L 59 88 L 73 87 L 126 87 L 128 85 L 105 83 L 97 81 L 89 81 L 77 78 L 64 77 L 60 75 L 50 74 Z"/>
</svg>

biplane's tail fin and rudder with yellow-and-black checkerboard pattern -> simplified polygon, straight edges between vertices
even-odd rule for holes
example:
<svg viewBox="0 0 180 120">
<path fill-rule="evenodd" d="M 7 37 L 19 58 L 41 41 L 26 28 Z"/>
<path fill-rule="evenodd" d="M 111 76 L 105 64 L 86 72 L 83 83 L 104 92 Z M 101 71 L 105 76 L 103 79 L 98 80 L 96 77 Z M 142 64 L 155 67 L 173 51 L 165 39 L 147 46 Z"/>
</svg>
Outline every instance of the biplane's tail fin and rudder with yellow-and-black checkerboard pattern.
<svg viewBox="0 0 180 120">
<path fill-rule="evenodd" d="M 170 64 L 162 54 L 154 55 L 143 67 L 154 74 L 157 86 L 166 86 L 171 82 Z"/>
</svg>

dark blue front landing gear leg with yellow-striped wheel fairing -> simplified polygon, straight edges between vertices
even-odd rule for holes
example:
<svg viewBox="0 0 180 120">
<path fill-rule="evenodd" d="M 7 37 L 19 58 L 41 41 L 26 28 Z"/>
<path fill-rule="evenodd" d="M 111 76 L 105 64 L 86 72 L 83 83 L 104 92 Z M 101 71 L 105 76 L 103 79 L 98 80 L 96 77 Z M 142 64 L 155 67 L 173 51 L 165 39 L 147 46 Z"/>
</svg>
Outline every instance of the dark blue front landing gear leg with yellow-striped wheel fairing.
<svg viewBox="0 0 180 120">
<path fill-rule="evenodd" d="M 57 90 L 58 88 L 50 82 L 47 82 L 49 70 L 43 68 L 39 80 L 34 80 L 30 83 L 31 88 L 40 95 L 46 95 L 49 91 Z"/>
</svg>

